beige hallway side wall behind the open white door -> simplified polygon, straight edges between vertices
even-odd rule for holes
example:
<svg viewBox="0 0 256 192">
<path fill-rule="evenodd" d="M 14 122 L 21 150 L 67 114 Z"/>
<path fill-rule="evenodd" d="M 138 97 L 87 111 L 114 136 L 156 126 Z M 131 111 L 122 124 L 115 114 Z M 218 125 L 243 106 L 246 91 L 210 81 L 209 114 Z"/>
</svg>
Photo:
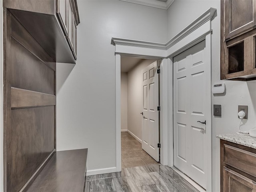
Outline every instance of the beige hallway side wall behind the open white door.
<svg viewBox="0 0 256 192">
<path fill-rule="evenodd" d="M 142 133 L 142 69 L 156 60 L 142 59 L 128 71 L 128 130 L 141 140 Z"/>
</svg>

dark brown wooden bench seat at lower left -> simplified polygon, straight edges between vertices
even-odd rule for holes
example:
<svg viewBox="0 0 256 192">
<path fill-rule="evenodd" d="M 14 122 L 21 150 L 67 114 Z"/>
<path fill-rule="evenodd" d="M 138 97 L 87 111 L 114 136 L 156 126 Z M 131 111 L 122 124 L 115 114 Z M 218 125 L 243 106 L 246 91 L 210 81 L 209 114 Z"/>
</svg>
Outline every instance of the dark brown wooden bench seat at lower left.
<svg viewBox="0 0 256 192">
<path fill-rule="evenodd" d="M 83 192 L 87 148 L 57 151 L 27 192 Z"/>
</svg>

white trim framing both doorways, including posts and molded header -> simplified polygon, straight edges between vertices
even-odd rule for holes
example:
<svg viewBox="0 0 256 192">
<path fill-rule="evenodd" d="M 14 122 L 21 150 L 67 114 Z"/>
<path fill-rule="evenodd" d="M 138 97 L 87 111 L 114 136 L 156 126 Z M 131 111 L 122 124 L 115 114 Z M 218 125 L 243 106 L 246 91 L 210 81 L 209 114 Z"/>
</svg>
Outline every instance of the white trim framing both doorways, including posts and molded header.
<svg viewBox="0 0 256 192">
<path fill-rule="evenodd" d="M 161 59 L 160 69 L 160 103 L 162 105 L 160 114 L 160 137 L 161 137 L 161 164 L 174 166 L 174 142 L 173 142 L 173 57 L 182 53 L 184 50 L 202 42 L 206 42 L 205 57 L 207 63 L 211 67 L 211 44 L 212 44 L 212 28 L 211 22 L 216 17 L 216 9 L 209 8 L 200 15 L 194 22 L 189 24 L 174 38 L 162 43 L 144 42 L 138 40 L 112 38 L 111 44 L 115 46 L 115 61 L 116 61 L 116 170 L 121 170 L 121 101 L 120 101 L 120 63 L 121 55 L 140 56 L 141 58 L 155 58 Z M 208 70 L 207 77 L 207 98 L 208 109 L 210 114 L 212 95 L 211 95 L 211 71 Z M 206 190 L 212 191 L 212 115 L 206 118 L 206 148 L 207 148 L 207 161 L 206 161 Z"/>
</svg>

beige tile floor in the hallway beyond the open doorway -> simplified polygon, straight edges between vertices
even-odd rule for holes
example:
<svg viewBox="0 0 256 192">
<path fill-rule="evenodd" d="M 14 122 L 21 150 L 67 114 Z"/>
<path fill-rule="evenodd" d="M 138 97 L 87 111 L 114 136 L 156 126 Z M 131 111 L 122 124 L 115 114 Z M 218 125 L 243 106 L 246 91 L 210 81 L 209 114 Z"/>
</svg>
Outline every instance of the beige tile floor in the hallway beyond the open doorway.
<svg viewBox="0 0 256 192">
<path fill-rule="evenodd" d="M 121 132 L 122 168 L 158 164 L 130 133 Z"/>
</svg>

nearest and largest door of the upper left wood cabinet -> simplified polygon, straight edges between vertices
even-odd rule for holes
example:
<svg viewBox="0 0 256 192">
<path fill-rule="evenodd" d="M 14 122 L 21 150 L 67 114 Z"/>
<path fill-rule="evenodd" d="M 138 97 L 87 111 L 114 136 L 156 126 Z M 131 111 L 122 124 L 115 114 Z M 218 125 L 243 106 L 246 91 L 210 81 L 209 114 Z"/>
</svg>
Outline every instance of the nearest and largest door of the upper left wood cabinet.
<svg viewBox="0 0 256 192">
<path fill-rule="evenodd" d="M 65 35 L 68 35 L 68 0 L 57 0 L 57 15 L 64 30 Z"/>
</svg>

